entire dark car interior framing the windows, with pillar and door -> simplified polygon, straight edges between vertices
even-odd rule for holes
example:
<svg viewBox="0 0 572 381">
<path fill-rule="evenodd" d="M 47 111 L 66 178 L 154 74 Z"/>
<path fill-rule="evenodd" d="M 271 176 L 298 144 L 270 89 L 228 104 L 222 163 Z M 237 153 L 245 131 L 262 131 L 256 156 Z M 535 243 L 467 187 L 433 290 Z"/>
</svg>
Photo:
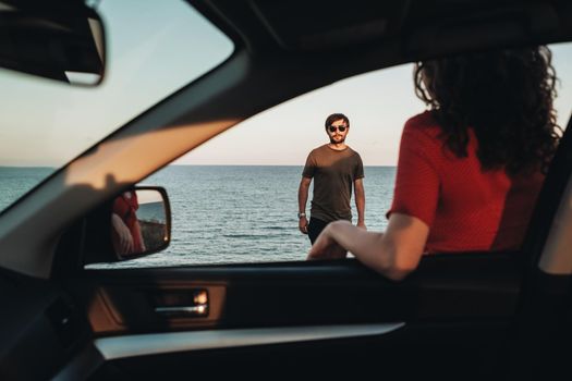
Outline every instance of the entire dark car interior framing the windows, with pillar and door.
<svg viewBox="0 0 572 381">
<path fill-rule="evenodd" d="M 0 213 L 1 379 L 536 380 L 570 373 L 572 121 L 516 251 L 425 256 L 399 282 L 355 259 L 88 265 L 110 260 L 100 236 L 109 231 L 110 205 L 127 189 L 155 192 L 165 205 L 160 242 L 149 253 L 163 249 L 173 224 L 169 196 L 161 184 L 136 184 L 240 122 L 374 70 L 572 41 L 572 3 L 185 1 L 232 39 L 232 54 Z M 23 1 L 22 9 L 41 14 L 41 3 Z M 70 14 L 96 17 L 80 3 Z M 76 39 L 50 36 L 75 45 L 85 30 L 77 27 Z M 66 62 L 98 75 L 86 91 L 107 75 L 106 60 L 77 69 L 100 57 L 94 49 L 85 46 L 83 61 Z M 62 81 L 62 66 L 0 65 Z"/>
</svg>

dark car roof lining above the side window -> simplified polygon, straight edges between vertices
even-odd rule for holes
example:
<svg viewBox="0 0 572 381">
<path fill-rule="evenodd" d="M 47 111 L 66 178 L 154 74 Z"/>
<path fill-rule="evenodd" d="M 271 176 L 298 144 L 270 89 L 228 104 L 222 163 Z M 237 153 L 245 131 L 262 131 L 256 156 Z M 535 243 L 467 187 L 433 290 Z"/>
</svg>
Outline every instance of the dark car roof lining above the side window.
<svg viewBox="0 0 572 381">
<path fill-rule="evenodd" d="M 191 0 L 253 54 L 341 53 L 398 41 L 402 59 L 459 47 L 565 40 L 569 1 Z"/>
</svg>

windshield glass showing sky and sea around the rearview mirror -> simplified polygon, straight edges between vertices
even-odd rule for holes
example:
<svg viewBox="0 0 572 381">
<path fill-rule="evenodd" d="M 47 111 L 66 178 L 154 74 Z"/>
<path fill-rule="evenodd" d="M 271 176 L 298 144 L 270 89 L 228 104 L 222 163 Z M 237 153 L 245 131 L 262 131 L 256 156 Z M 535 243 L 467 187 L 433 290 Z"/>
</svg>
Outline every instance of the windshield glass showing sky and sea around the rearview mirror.
<svg viewBox="0 0 572 381">
<path fill-rule="evenodd" d="M 184 1 L 95 3 L 107 40 L 99 87 L 0 70 L 0 211 L 232 53 L 232 41 Z"/>
</svg>

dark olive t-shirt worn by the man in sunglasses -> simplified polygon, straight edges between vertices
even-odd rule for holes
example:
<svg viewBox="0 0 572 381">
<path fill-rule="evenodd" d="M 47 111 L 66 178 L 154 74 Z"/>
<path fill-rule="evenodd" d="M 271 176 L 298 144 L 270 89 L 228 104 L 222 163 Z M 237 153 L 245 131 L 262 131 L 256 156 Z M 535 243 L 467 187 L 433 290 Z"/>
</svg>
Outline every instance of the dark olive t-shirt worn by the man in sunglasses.
<svg viewBox="0 0 572 381">
<path fill-rule="evenodd" d="M 311 214 L 324 222 L 352 220 L 353 182 L 364 176 L 360 155 L 350 147 L 338 151 L 324 145 L 309 152 L 302 172 L 314 179 Z"/>
</svg>

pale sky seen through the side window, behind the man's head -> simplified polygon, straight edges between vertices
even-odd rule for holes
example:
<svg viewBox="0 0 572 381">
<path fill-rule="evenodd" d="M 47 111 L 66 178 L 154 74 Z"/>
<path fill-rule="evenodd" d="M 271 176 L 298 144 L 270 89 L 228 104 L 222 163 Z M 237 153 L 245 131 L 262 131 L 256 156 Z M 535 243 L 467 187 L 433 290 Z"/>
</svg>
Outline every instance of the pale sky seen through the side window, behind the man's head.
<svg viewBox="0 0 572 381">
<path fill-rule="evenodd" d="M 553 46 L 559 124 L 572 113 L 572 44 Z M 326 118 L 342 112 L 350 119 L 346 143 L 364 165 L 395 165 L 401 131 L 423 112 L 414 94 L 413 64 L 357 75 L 264 111 L 207 142 L 178 164 L 304 165 L 308 152 L 328 143 Z"/>
</svg>

